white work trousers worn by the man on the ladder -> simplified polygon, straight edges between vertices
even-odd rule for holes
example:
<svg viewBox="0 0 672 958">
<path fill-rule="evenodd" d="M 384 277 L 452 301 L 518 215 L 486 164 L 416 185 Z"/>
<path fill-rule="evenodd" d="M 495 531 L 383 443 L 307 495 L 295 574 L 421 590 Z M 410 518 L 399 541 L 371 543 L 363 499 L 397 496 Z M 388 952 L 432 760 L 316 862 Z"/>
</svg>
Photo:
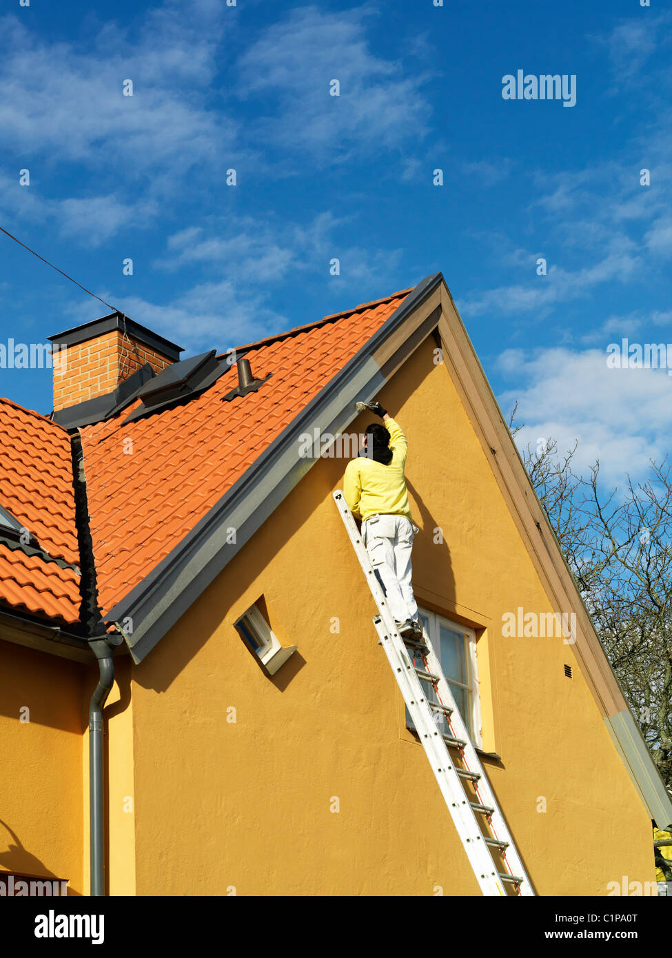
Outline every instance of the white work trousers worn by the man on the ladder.
<svg viewBox="0 0 672 958">
<path fill-rule="evenodd" d="M 361 523 L 366 551 L 385 587 L 387 604 L 397 622 L 417 620 L 411 588 L 410 551 L 414 526 L 405 515 L 372 515 Z"/>
</svg>

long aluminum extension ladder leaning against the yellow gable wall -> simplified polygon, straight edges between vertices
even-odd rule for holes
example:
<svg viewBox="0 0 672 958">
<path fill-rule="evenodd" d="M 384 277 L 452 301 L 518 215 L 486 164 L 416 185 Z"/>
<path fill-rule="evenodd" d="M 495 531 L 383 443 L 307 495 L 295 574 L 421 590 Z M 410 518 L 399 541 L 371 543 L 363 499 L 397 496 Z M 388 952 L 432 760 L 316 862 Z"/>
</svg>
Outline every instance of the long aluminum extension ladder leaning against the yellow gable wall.
<svg viewBox="0 0 672 958">
<path fill-rule="evenodd" d="M 334 499 L 359 564 L 378 605 L 373 623 L 390 668 L 397 679 L 416 732 L 422 741 L 441 794 L 480 890 L 486 896 L 534 896 L 513 838 L 498 807 L 467 727 L 452 697 L 438 656 L 426 635 L 404 637 L 387 607 L 357 523 L 341 490 Z M 426 696 L 433 688 L 438 701 Z M 445 723 L 447 731 L 440 725 Z"/>
</svg>

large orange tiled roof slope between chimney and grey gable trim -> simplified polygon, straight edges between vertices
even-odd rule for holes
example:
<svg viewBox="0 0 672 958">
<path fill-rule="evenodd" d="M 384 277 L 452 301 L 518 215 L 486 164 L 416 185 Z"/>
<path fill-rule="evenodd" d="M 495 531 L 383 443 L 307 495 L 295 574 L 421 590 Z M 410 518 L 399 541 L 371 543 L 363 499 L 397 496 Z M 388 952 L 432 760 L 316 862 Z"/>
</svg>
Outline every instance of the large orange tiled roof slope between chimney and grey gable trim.
<svg viewBox="0 0 672 958">
<path fill-rule="evenodd" d="M 81 429 L 99 600 L 104 615 L 197 525 L 266 447 L 406 299 L 403 290 L 244 349 L 256 393 L 220 399 L 235 365 L 187 402 Z"/>
</svg>

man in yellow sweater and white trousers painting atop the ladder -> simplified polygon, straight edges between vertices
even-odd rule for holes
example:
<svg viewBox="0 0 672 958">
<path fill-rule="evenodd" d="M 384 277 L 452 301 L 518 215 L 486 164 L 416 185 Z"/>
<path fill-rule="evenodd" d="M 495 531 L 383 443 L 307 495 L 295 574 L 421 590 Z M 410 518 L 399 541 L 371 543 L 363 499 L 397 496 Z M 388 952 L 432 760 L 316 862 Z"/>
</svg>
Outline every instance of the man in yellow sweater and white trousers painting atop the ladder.
<svg viewBox="0 0 672 958">
<path fill-rule="evenodd" d="M 361 519 L 362 541 L 380 575 L 400 634 L 422 634 L 410 584 L 410 552 L 418 529 L 411 518 L 404 477 L 406 436 L 380 402 L 358 402 L 357 408 L 380 416 L 385 425 L 367 426 L 366 455 L 353 459 L 345 469 L 345 501 L 355 518 Z"/>
</svg>

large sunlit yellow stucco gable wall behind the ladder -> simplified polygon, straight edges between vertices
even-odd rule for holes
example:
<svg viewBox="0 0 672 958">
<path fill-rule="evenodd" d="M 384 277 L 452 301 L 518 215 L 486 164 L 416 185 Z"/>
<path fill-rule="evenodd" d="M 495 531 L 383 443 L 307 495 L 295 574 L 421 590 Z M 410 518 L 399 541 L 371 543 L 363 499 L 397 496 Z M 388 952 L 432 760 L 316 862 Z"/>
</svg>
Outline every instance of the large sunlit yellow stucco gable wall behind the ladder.
<svg viewBox="0 0 672 958">
<path fill-rule="evenodd" d="M 651 880 L 650 822 L 570 647 L 501 635 L 504 612 L 552 609 L 433 349 L 429 339 L 380 399 L 409 440 L 419 598 L 478 630 L 504 814 L 539 894 Z M 133 669 L 140 895 L 478 894 L 377 645 L 331 498 L 344 466 L 316 464 Z M 261 595 L 283 645 L 298 646 L 270 679 L 233 627 Z"/>
</svg>

